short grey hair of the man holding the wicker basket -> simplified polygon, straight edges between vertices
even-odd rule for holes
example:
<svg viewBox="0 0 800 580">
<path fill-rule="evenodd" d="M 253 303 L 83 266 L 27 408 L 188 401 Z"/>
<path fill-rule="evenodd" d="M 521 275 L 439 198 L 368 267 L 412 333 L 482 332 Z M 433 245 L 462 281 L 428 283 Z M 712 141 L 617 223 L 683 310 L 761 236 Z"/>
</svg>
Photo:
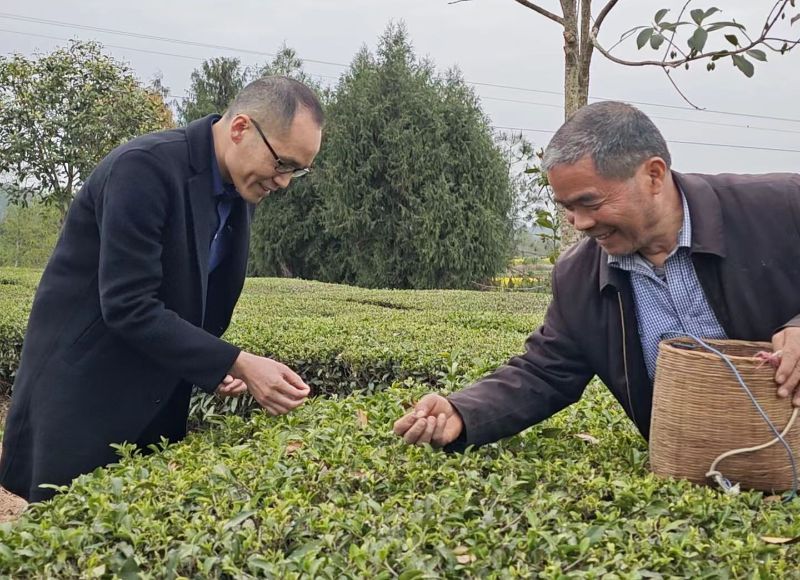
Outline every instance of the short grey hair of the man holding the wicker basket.
<svg viewBox="0 0 800 580">
<path fill-rule="evenodd" d="M 573 165 L 587 155 L 601 177 L 628 179 L 645 159 L 661 157 L 670 167 L 667 143 L 653 122 L 636 107 L 602 101 L 578 110 L 556 131 L 542 167 Z"/>
</svg>

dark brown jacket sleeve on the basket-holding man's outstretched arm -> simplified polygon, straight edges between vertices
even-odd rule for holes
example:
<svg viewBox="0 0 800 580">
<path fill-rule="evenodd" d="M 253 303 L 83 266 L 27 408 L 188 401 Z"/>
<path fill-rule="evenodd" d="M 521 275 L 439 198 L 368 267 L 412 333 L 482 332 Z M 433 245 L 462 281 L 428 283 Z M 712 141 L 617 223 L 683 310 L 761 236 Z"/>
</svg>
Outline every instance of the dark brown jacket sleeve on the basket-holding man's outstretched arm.
<svg viewBox="0 0 800 580">
<path fill-rule="evenodd" d="M 594 372 L 565 324 L 556 289 L 544 324 L 525 343 L 525 353 L 448 397 L 464 420 L 462 436 L 447 450 L 483 445 L 519 433 L 580 399 Z"/>
</svg>

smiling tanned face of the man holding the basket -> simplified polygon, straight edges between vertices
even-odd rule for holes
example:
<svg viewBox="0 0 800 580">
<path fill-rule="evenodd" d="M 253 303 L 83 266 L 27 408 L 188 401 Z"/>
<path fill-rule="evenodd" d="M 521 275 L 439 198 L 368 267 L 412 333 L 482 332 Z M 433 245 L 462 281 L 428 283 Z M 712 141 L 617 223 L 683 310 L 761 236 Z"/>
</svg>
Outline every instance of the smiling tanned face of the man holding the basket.
<svg viewBox="0 0 800 580">
<path fill-rule="evenodd" d="M 607 253 L 632 254 L 646 247 L 659 222 L 656 191 L 644 162 L 629 179 L 597 174 L 590 156 L 547 173 L 556 203 L 575 229 L 593 238 Z"/>
</svg>

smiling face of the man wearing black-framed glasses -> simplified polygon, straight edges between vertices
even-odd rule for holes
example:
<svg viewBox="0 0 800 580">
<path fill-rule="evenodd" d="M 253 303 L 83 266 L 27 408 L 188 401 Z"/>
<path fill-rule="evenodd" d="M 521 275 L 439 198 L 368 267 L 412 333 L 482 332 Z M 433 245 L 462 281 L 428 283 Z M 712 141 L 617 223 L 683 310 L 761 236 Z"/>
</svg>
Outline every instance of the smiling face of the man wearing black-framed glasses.
<svg viewBox="0 0 800 580">
<path fill-rule="evenodd" d="M 322 140 L 321 128 L 303 108 L 298 109 L 286 131 L 271 134 L 267 127 L 260 127 L 263 137 L 249 116 L 236 115 L 230 125 L 233 147 L 226 157 L 231 182 L 245 201 L 254 204 L 273 191 L 288 187 L 292 180 L 291 173 L 278 171 L 276 155 L 280 167 L 307 168 L 319 152 Z"/>
</svg>

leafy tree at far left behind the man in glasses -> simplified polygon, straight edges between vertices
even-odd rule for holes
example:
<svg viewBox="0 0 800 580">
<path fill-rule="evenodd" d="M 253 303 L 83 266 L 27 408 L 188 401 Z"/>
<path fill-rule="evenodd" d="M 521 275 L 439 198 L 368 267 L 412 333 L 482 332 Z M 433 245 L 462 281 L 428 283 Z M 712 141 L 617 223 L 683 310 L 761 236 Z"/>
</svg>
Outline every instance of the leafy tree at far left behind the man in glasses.
<svg viewBox="0 0 800 580">
<path fill-rule="evenodd" d="M 171 125 L 161 95 L 96 43 L 0 57 L 0 173 L 15 180 L 12 201 L 39 196 L 63 216 L 109 151 Z"/>
</svg>

